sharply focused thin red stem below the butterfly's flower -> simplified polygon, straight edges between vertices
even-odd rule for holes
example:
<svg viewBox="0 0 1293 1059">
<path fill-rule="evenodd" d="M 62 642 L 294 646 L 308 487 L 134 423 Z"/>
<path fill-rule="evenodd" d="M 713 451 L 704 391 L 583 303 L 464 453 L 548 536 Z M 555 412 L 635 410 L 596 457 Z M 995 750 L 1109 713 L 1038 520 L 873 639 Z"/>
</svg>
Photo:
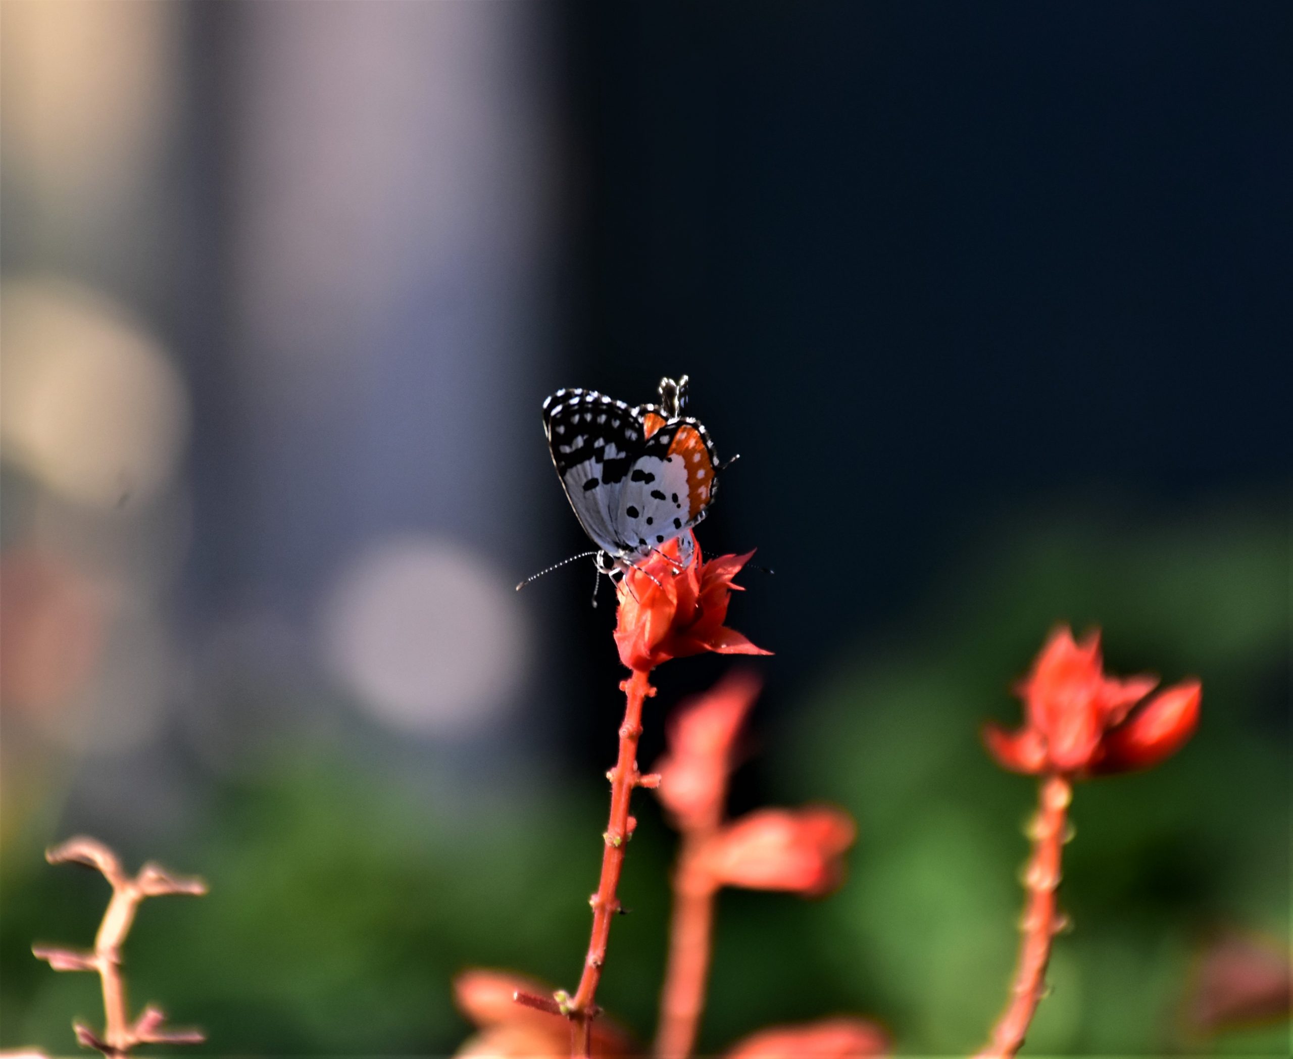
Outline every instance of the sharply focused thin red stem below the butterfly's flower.
<svg viewBox="0 0 1293 1059">
<path fill-rule="evenodd" d="M 595 997 L 597 983 L 601 981 L 601 967 L 606 959 L 606 943 L 610 940 L 610 921 L 619 912 L 615 890 L 619 886 L 619 872 L 625 864 L 625 852 L 632 837 L 635 821 L 628 815 L 628 800 L 634 787 L 643 776 L 637 771 L 637 740 L 643 733 L 643 702 L 656 694 L 650 685 L 649 671 L 634 670 L 634 675 L 621 683 L 625 692 L 625 723 L 619 725 L 619 759 L 610 771 L 610 821 L 603 834 L 601 882 L 597 892 L 590 899 L 592 905 L 592 937 L 588 941 L 588 956 L 583 962 L 583 976 L 574 997 L 564 1003 L 566 1015 L 574 1023 L 572 1034 L 572 1055 L 588 1056 L 591 1025 L 597 1016 Z"/>
</svg>

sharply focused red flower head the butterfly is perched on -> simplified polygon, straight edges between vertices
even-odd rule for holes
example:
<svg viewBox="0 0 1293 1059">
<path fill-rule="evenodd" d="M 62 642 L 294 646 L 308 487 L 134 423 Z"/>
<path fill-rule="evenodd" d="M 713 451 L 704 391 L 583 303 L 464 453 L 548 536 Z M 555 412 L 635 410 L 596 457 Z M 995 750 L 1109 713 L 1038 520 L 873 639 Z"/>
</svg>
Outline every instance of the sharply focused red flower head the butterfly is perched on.
<svg viewBox="0 0 1293 1059">
<path fill-rule="evenodd" d="M 625 574 L 619 582 L 615 645 L 628 669 L 649 672 L 670 658 L 706 650 L 719 654 L 771 654 L 745 636 L 724 627 L 732 578 L 750 561 L 746 555 L 720 555 L 703 562 L 696 537 L 690 561 L 679 569 L 678 539 Z"/>
</svg>

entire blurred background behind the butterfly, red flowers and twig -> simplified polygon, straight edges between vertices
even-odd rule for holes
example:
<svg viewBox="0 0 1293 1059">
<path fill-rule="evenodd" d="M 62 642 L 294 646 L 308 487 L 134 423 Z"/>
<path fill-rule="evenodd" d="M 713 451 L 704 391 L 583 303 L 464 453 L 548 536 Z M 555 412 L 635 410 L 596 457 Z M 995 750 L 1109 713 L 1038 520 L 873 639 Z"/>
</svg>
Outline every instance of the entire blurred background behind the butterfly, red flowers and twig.
<svg viewBox="0 0 1293 1059">
<path fill-rule="evenodd" d="M 734 811 L 834 800 L 851 878 L 724 893 L 702 1046 L 852 1011 L 908 1054 L 1005 1000 L 1032 785 L 987 718 L 1059 621 L 1199 675 L 1161 768 L 1078 790 L 1034 1054 L 1208 1032 L 1287 957 L 1287 4 L 4 0 L 0 1046 L 67 1053 L 107 888 L 206 1054 L 446 1054 L 472 965 L 570 987 L 622 700 L 544 396 L 741 453 L 776 652 Z M 658 674 L 663 716 L 716 658 Z M 653 802 L 600 1000 L 649 1038 Z"/>
</svg>

